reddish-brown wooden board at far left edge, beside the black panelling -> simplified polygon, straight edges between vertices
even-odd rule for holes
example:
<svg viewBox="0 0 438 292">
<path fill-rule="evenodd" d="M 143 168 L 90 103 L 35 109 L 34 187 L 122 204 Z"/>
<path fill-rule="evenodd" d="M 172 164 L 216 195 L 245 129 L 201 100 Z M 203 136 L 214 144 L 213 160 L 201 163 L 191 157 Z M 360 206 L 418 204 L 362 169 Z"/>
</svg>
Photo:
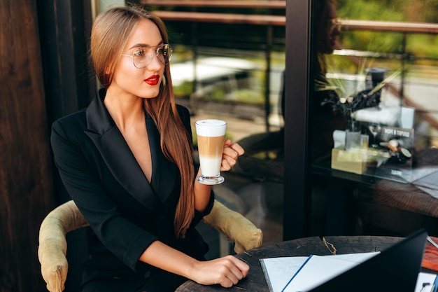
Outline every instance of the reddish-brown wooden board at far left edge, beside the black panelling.
<svg viewBox="0 0 438 292">
<path fill-rule="evenodd" d="M 38 229 L 53 207 L 35 1 L 0 1 L 0 291 L 44 291 Z"/>
</svg>

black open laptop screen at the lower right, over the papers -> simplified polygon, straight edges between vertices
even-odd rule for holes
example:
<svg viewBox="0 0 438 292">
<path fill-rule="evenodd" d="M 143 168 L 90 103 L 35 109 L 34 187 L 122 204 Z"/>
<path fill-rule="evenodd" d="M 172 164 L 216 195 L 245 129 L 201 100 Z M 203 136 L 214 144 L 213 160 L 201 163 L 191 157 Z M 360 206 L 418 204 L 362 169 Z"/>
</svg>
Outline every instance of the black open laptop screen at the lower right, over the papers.
<svg viewBox="0 0 438 292">
<path fill-rule="evenodd" d="M 419 230 L 311 292 L 415 291 L 428 232 Z"/>
</svg>

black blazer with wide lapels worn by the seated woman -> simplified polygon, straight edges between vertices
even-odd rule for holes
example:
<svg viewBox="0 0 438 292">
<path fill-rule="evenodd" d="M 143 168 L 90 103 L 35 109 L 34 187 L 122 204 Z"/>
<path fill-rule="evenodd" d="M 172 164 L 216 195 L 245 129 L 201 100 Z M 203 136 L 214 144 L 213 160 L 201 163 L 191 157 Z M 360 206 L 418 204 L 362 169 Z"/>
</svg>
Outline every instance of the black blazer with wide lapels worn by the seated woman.
<svg viewBox="0 0 438 292">
<path fill-rule="evenodd" d="M 105 95 L 106 90 L 99 90 L 87 109 L 52 125 L 55 164 L 66 190 L 93 230 L 84 281 L 129 277 L 132 282 L 133 277 L 138 281 L 152 277 L 157 269 L 139 262 L 139 257 L 157 239 L 202 259 L 206 246 L 194 227 L 211 211 L 213 193 L 206 211 L 195 212 L 186 238 L 176 239 L 174 214 L 181 186 L 178 167 L 164 157 L 160 133 L 146 114 L 153 167 L 149 183 L 104 106 Z M 188 110 L 178 106 L 178 113 L 191 136 Z"/>
</svg>

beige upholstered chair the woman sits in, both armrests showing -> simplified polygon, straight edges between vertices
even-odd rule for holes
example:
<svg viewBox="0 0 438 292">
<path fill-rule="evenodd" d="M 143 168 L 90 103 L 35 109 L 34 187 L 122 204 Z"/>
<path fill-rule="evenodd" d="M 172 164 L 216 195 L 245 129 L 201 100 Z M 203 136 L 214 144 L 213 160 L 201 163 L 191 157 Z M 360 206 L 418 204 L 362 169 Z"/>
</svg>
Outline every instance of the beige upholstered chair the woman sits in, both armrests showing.
<svg viewBox="0 0 438 292">
<path fill-rule="evenodd" d="M 211 213 L 203 220 L 234 242 L 236 253 L 262 245 L 262 230 L 256 228 L 238 212 L 225 207 L 218 200 L 215 200 Z M 69 267 L 66 259 L 66 233 L 87 225 L 87 221 L 73 200 L 50 211 L 41 223 L 38 237 L 38 259 L 48 291 L 61 292 L 65 289 L 64 284 Z"/>
</svg>

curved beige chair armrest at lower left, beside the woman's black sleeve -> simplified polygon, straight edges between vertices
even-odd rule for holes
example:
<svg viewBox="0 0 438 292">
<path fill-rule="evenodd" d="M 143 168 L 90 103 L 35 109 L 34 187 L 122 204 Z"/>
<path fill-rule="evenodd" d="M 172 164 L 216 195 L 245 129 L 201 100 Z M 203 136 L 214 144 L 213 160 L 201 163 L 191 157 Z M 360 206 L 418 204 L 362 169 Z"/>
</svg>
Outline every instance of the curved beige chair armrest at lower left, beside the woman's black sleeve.
<svg viewBox="0 0 438 292">
<path fill-rule="evenodd" d="M 69 265 L 66 259 L 66 233 L 88 223 L 70 200 L 53 209 L 41 223 L 38 237 L 38 259 L 48 291 L 64 291 Z"/>
</svg>

